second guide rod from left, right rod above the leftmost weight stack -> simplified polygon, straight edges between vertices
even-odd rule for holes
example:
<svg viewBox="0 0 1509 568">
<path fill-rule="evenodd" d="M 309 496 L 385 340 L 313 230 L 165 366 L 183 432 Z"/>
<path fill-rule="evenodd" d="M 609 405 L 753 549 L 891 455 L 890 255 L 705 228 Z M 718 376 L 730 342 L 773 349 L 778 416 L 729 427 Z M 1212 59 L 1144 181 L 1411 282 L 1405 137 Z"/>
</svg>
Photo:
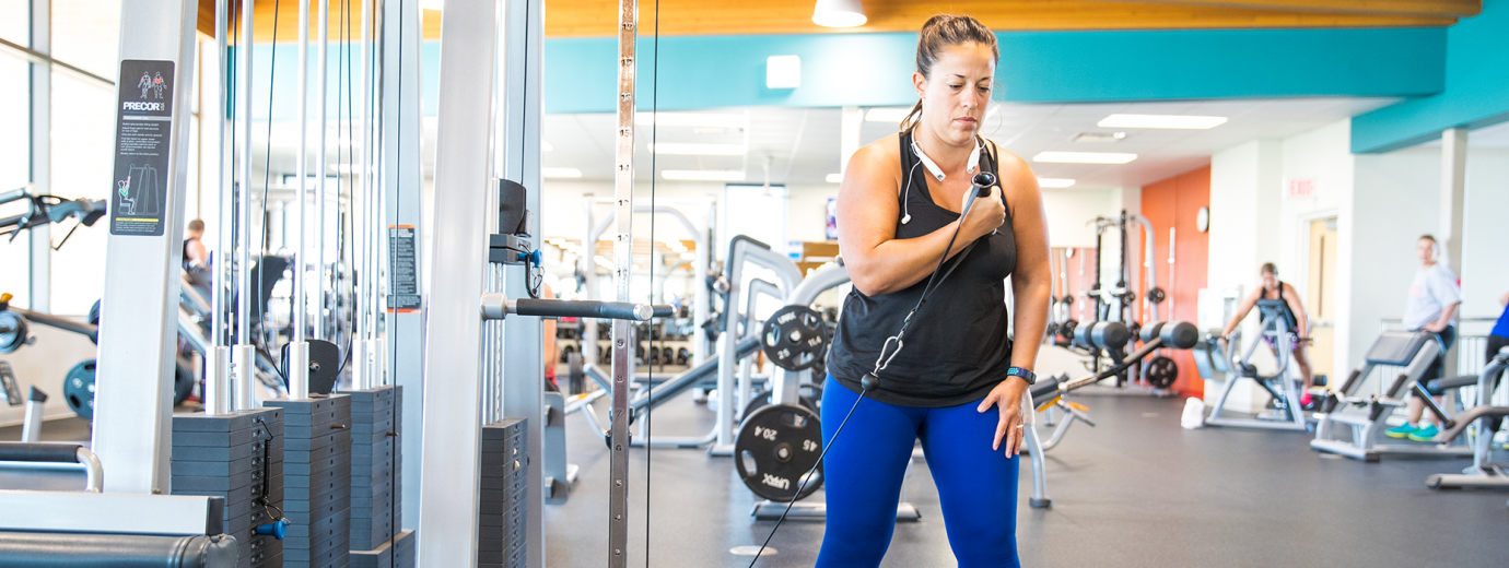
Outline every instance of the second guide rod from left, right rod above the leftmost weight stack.
<svg viewBox="0 0 1509 568">
<path fill-rule="evenodd" d="M 249 356 L 250 340 L 252 340 L 252 270 L 250 270 L 250 244 L 252 244 L 252 21 L 254 11 L 250 2 L 241 3 L 241 29 L 240 38 L 235 41 L 235 74 L 237 83 L 241 87 L 241 95 L 237 98 L 241 107 L 241 161 L 240 161 L 240 178 L 241 182 L 237 187 L 238 211 L 235 215 L 237 238 L 235 244 L 235 288 L 240 291 L 235 297 L 235 350 L 231 353 L 232 368 L 235 369 L 235 410 L 252 408 L 252 381 L 257 380 L 257 362 L 254 356 Z M 266 188 L 264 188 L 266 191 Z"/>
</svg>

